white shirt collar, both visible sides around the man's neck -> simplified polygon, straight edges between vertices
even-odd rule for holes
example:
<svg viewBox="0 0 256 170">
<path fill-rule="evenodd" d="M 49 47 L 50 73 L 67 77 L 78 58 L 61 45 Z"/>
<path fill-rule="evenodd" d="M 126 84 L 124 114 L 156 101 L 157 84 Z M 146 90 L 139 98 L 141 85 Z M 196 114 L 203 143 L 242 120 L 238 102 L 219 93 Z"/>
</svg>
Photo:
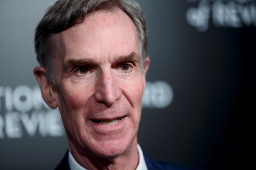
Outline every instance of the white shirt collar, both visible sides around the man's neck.
<svg viewBox="0 0 256 170">
<path fill-rule="evenodd" d="M 138 151 L 139 151 L 139 164 L 136 170 L 148 170 L 147 165 L 143 156 L 142 149 L 140 148 L 139 144 L 137 144 Z M 68 150 L 68 163 L 71 170 L 86 170 L 81 165 L 79 165 L 74 157 L 72 156 L 70 150 Z"/>
</svg>

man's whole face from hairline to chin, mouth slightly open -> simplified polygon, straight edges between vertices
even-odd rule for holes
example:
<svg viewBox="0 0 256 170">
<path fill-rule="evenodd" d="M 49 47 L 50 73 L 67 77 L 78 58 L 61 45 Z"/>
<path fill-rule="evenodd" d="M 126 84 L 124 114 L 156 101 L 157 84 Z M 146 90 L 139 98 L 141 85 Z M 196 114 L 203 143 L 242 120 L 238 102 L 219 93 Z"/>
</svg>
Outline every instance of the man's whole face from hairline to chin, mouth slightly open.
<svg viewBox="0 0 256 170">
<path fill-rule="evenodd" d="M 52 96 L 69 144 L 101 157 L 124 153 L 138 132 L 148 66 L 141 71 L 132 20 L 121 10 L 99 11 L 52 40 L 57 54 Z"/>
</svg>

